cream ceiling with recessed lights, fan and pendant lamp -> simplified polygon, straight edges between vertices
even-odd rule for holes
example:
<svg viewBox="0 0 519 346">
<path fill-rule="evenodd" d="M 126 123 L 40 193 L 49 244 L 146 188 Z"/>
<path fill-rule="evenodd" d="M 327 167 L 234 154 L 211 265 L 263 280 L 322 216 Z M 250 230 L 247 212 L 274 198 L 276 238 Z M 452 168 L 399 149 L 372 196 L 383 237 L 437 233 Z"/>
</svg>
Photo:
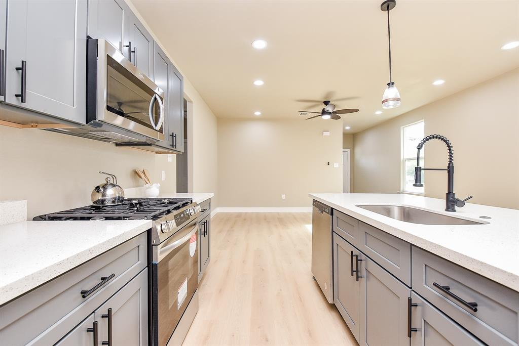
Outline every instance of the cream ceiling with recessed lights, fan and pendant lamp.
<svg viewBox="0 0 519 346">
<path fill-rule="evenodd" d="M 519 1 L 399 0 L 391 10 L 393 80 L 402 105 L 381 108 L 388 82 L 381 1 L 132 0 L 221 118 L 301 118 L 297 99 L 354 99 L 337 109 L 349 133 L 519 66 Z M 268 42 L 263 50 L 251 42 Z M 256 79 L 265 81 L 255 86 Z M 444 79 L 441 86 L 431 83 Z M 376 110 L 384 113 L 377 116 Z M 308 121 L 334 121 L 313 119 Z"/>
</svg>

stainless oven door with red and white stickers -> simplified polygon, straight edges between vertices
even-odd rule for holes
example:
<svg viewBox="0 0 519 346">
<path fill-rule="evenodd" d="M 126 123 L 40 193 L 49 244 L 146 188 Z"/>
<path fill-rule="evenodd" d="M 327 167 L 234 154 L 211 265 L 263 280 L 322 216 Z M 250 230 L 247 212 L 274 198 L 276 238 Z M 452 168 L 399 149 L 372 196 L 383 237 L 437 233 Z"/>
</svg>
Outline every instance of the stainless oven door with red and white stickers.
<svg viewBox="0 0 519 346">
<path fill-rule="evenodd" d="M 198 222 L 153 246 L 153 345 L 165 346 L 198 288 Z"/>
</svg>

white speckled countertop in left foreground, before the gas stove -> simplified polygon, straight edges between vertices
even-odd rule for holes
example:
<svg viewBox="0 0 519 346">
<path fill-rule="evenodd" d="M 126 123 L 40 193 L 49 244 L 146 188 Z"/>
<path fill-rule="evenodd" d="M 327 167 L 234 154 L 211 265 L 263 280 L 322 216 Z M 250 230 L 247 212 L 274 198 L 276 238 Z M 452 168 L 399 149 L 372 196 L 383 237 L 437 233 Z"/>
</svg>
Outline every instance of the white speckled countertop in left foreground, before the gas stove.
<svg viewBox="0 0 519 346">
<path fill-rule="evenodd" d="M 23 221 L 0 226 L 0 305 L 152 228 L 152 221 Z"/>
</svg>

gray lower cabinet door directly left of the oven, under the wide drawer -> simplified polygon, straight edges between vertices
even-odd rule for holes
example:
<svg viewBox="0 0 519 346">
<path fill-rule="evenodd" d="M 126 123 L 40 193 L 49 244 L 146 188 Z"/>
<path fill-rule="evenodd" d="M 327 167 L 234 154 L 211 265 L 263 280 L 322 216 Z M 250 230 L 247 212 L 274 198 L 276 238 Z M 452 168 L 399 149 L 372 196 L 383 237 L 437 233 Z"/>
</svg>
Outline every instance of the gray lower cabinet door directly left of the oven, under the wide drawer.
<svg viewBox="0 0 519 346">
<path fill-rule="evenodd" d="M 108 341 L 109 320 L 113 345 L 148 344 L 148 269 L 127 283 L 122 289 L 95 310 L 99 321 L 99 344 Z"/>
</svg>

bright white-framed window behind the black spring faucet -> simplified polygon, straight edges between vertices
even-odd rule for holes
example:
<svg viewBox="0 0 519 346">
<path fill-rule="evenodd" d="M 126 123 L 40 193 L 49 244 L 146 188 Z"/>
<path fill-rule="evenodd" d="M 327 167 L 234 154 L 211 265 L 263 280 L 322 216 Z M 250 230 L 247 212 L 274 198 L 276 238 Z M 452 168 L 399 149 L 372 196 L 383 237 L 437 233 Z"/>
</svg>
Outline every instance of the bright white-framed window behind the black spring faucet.
<svg viewBox="0 0 519 346">
<path fill-rule="evenodd" d="M 402 127 L 402 191 L 424 193 L 424 188 L 413 186 L 415 182 L 416 146 L 425 137 L 424 121 L 419 121 Z M 424 149 L 420 150 L 420 166 L 424 167 Z M 425 184 L 424 171 L 422 183 Z"/>
</svg>

